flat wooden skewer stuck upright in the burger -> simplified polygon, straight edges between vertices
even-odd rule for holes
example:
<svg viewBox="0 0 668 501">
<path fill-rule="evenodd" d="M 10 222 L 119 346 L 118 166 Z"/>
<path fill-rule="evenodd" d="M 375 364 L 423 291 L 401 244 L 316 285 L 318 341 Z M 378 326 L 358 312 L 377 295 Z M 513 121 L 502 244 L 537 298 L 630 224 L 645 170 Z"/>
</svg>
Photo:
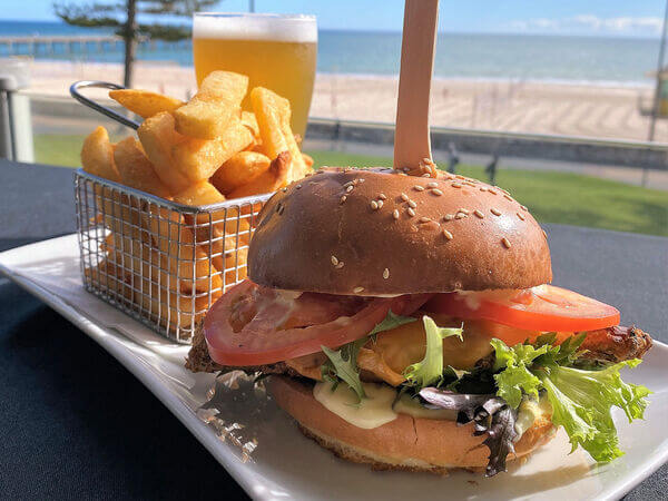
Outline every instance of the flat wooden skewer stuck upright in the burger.
<svg viewBox="0 0 668 501">
<path fill-rule="evenodd" d="M 416 168 L 431 160 L 429 96 L 431 90 L 439 0 L 406 0 L 401 73 L 394 132 L 394 168 Z"/>
</svg>

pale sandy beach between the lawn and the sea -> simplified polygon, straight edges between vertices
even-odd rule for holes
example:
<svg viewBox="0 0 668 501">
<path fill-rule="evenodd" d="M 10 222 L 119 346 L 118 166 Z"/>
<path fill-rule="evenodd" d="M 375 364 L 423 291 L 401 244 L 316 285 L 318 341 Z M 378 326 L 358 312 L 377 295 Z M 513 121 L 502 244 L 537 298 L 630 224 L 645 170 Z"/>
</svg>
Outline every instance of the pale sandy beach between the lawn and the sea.
<svg viewBox="0 0 668 501">
<path fill-rule="evenodd" d="M 67 96 L 75 80 L 121 81 L 122 68 L 114 63 L 33 61 L 36 96 Z M 191 68 L 140 62 L 135 87 L 178 98 L 195 91 Z M 392 122 L 397 79 L 318 73 L 311 115 Z M 639 100 L 649 100 L 650 87 L 576 85 L 538 81 L 436 79 L 432 90 L 434 126 L 495 129 L 646 140 L 649 117 L 639 112 Z M 668 120 L 659 120 L 657 141 L 668 143 Z"/>
</svg>

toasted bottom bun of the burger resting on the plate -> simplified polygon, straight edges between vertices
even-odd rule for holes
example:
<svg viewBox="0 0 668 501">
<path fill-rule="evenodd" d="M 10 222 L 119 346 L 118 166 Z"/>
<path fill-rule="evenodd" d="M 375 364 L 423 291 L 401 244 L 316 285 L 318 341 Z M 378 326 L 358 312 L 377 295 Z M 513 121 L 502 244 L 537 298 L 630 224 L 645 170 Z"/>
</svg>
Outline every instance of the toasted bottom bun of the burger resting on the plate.
<svg viewBox="0 0 668 501">
<path fill-rule="evenodd" d="M 365 430 L 344 421 L 313 396 L 313 385 L 286 376 L 272 376 L 268 389 L 276 403 L 298 423 L 302 432 L 340 458 L 369 463 L 374 470 L 409 470 L 445 473 L 451 469 L 484 472 L 490 451 L 474 436 L 473 424 L 399 416 Z M 508 461 L 525 456 L 554 433 L 547 418 L 537 420 L 514 444 Z"/>
</svg>

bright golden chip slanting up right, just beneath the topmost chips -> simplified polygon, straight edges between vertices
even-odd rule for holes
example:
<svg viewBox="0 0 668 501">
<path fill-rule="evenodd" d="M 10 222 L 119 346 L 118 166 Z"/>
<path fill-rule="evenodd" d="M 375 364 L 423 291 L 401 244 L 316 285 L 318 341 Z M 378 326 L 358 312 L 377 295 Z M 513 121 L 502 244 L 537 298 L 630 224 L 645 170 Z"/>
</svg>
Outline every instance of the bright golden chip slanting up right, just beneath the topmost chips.
<svg viewBox="0 0 668 501">
<path fill-rule="evenodd" d="M 171 148 L 176 167 L 190 181 L 208 179 L 224 163 L 253 143 L 253 134 L 236 118 L 214 140 L 188 138 Z"/>
</svg>

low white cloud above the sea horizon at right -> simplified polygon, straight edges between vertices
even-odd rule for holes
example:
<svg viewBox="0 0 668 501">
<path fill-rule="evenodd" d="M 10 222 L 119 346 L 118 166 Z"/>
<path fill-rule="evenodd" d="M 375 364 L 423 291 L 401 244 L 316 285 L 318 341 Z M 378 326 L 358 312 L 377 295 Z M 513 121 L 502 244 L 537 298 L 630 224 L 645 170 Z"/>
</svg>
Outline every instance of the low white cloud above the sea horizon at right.
<svg viewBox="0 0 668 501">
<path fill-rule="evenodd" d="M 510 23 L 517 31 L 542 32 L 597 32 L 610 35 L 656 36 L 661 32 L 664 20 L 658 17 L 619 17 L 600 18 L 593 14 L 578 14 L 562 19 L 524 19 Z"/>
</svg>

